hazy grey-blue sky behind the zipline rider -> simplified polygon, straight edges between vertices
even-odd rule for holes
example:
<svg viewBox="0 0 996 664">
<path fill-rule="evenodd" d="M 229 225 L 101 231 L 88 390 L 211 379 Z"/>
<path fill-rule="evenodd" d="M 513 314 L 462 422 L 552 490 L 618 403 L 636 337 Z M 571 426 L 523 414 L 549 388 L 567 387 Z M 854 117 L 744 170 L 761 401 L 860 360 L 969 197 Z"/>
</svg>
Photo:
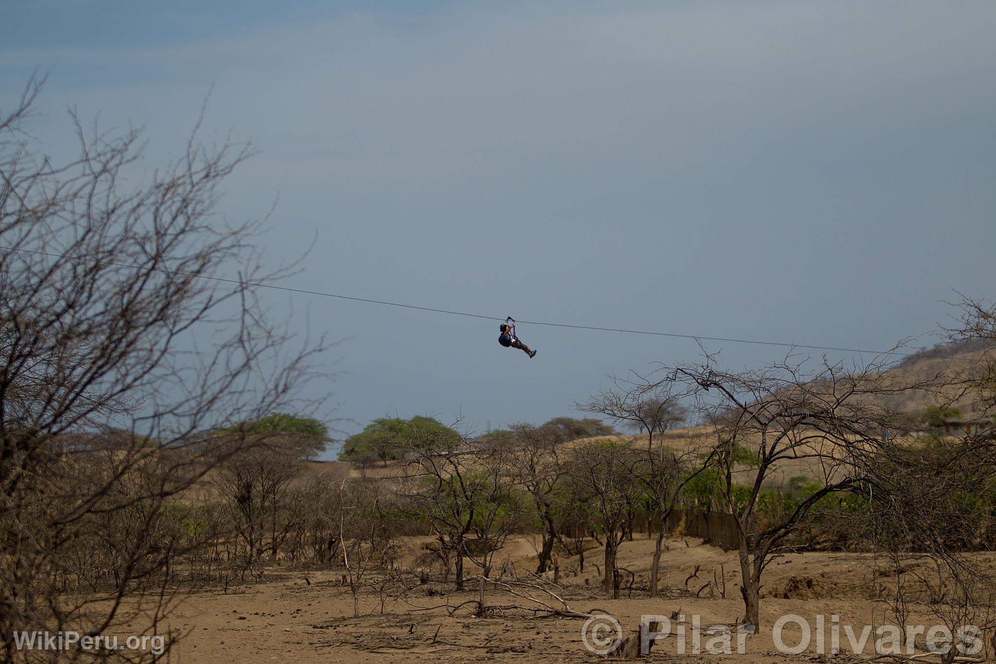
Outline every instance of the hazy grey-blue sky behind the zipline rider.
<svg viewBox="0 0 996 664">
<path fill-rule="evenodd" d="M 0 3 L 0 111 L 51 70 L 64 113 L 260 153 L 229 218 L 279 197 L 264 250 L 309 290 L 520 320 L 889 347 L 996 283 L 996 3 Z M 691 340 L 271 292 L 342 338 L 346 433 L 574 414 Z M 290 301 L 290 302 L 289 302 Z M 307 321 L 305 314 L 308 314 Z M 732 367 L 783 351 L 708 342 Z M 848 356 L 837 353 L 835 356 Z"/>
</svg>

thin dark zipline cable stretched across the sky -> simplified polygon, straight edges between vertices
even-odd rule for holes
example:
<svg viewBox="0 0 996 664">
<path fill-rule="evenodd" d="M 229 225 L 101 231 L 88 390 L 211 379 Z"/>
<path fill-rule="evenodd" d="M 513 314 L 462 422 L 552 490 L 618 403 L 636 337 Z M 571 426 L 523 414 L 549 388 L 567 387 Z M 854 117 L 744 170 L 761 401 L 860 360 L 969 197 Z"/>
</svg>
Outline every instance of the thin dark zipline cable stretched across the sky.
<svg viewBox="0 0 996 664">
<path fill-rule="evenodd" d="M 164 270 L 162 268 L 145 268 L 145 267 L 141 267 L 141 266 L 137 266 L 137 265 L 127 265 L 125 263 L 114 263 L 114 262 L 110 262 L 110 261 L 99 261 L 98 259 L 95 259 L 95 258 L 86 258 L 86 257 L 83 257 L 83 256 L 76 257 L 74 259 L 74 258 L 71 258 L 69 256 L 64 256 L 62 254 L 53 254 L 53 253 L 50 253 L 50 252 L 35 251 L 35 250 L 32 250 L 32 249 L 23 249 L 23 248 L 19 248 L 19 247 L 0 247 L 0 250 L 4 250 L 4 251 L 19 251 L 19 252 L 23 252 L 23 253 L 26 253 L 26 254 L 36 254 L 36 255 L 39 255 L 39 256 L 50 256 L 52 258 L 60 258 L 60 259 L 67 260 L 67 261 L 68 260 L 90 261 L 90 262 L 93 262 L 93 263 L 103 263 L 104 265 L 110 265 L 110 266 L 114 266 L 114 267 L 117 267 L 117 268 L 128 268 L 128 269 L 132 269 L 132 270 L 148 270 L 150 272 L 158 272 L 158 273 L 162 273 L 162 274 L 170 275 L 170 276 L 194 277 L 196 279 L 207 279 L 207 280 L 210 280 L 210 281 L 222 282 L 222 283 L 225 283 L 225 284 L 236 284 L 236 285 L 239 285 L 239 286 L 251 286 L 253 288 L 273 289 L 273 290 L 276 290 L 276 291 L 286 291 L 288 293 L 300 293 L 302 295 L 315 295 L 315 296 L 319 296 L 319 297 L 323 297 L 323 298 L 337 298 L 339 300 L 352 300 L 354 302 L 366 302 L 366 303 L 370 303 L 370 304 L 373 304 L 373 305 L 386 305 L 388 307 L 401 307 L 401 308 L 404 308 L 404 309 L 415 309 L 415 310 L 418 310 L 418 311 L 421 311 L 421 312 L 432 312 L 432 313 L 435 313 L 435 314 L 448 314 L 450 316 L 465 316 L 465 317 L 472 318 L 472 319 L 484 319 L 486 321 L 502 321 L 503 320 L 503 319 L 495 318 L 493 316 L 481 316 L 480 314 L 468 314 L 466 312 L 453 312 L 453 311 L 449 311 L 449 310 L 445 310 L 445 309 L 433 309 L 431 307 L 416 307 L 415 305 L 404 305 L 404 304 L 397 303 L 397 302 L 386 302 L 384 300 L 371 300 L 369 298 L 356 298 L 356 297 L 348 296 L 348 295 L 337 295 L 335 293 L 325 293 L 323 291 L 309 291 L 309 290 L 306 290 L 306 289 L 291 288 L 289 286 L 277 286 L 276 284 L 261 284 L 259 282 L 246 282 L 246 281 L 239 281 L 237 279 L 225 279 L 223 277 L 208 277 L 207 275 L 195 275 L 195 274 L 187 273 L 187 272 L 178 272 L 178 271 L 174 271 L 174 270 Z M 944 356 L 944 355 L 926 355 L 926 354 L 922 354 L 922 353 L 919 353 L 919 352 L 901 352 L 899 350 L 869 350 L 869 349 L 864 349 L 863 350 L 862 348 L 846 348 L 846 347 L 833 346 L 833 345 L 811 345 L 811 344 L 807 344 L 807 343 L 789 343 L 789 342 L 786 342 L 786 341 L 761 341 L 761 340 L 758 340 L 758 339 L 736 338 L 736 337 L 732 337 L 732 336 L 703 336 L 703 335 L 700 335 L 700 334 L 679 334 L 679 333 L 676 333 L 676 332 L 648 332 L 648 331 L 645 331 L 645 330 L 624 330 L 622 328 L 599 328 L 599 327 L 595 327 L 595 326 L 573 326 L 573 325 L 568 325 L 568 324 L 565 324 L 565 323 L 545 323 L 545 322 L 542 322 L 542 321 L 517 321 L 517 323 L 525 323 L 525 324 L 531 325 L 531 326 L 546 326 L 548 328 L 570 328 L 570 329 L 573 329 L 573 330 L 594 330 L 594 331 L 598 331 L 598 332 L 621 332 L 621 333 L 624 333 L 624 334 L 645 334 L 645 335 L 650 335 L 650 336 L 670 336 L 670 337 L 673 337 L 673 338 L 690 338 L 690 339 L 705 340 L 705 341 L 726 341 L 726 342 L 729 342 L 729 343 L 753 343 L 753 344 L 756 344 L 756 345 L 776 345 L 776 346 L 790 347 L 790 348 L 807 348 L 807 349 L 811 349 L 811 350 L 836 350 L 836 351 L 839 351 L 839 352 L 870 352 L 870 353 L 875 354 L 875 355 L 892 354 L 892 355 L 899 355 L 899 356 L 903 356 L 903 357 L 910 357 L 910 356 L 913 356 L 913 355 L 917 355 L 919 357 L 925 357 L 925 358 L 930 358 L 930 359 L 968 359 L 968 358 L 959 358 L 959 357 Z"/>
</svg>

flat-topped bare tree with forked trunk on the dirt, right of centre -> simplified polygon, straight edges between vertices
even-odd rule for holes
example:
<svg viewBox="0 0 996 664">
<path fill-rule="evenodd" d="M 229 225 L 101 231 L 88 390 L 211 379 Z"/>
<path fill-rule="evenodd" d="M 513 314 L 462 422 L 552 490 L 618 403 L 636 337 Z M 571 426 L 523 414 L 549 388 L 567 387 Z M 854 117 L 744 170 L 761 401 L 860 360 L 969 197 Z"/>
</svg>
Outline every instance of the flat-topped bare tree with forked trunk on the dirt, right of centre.
<svg viewBox="0 0 996 664">
<path fill-rule="evenodd" d="M 908 385 L 882 373 L 884 357 L 854 367 L 824 358 L 807 370 L 807 360 L 790 356 L 738 373 L 718 368 L 715 359 L 662 367 L 656 386 L 694 394 L 696 415 L 714 423 L 718 496 L 737 523 L 746 620 L 758 625 L 766 566 L 824 497 L 864 490 L 885 432 L 901 421 L 881 397 Z M 761 528 L 762 488 L 790 460 L 807 463 L 820 487 Z"/>
</svg>

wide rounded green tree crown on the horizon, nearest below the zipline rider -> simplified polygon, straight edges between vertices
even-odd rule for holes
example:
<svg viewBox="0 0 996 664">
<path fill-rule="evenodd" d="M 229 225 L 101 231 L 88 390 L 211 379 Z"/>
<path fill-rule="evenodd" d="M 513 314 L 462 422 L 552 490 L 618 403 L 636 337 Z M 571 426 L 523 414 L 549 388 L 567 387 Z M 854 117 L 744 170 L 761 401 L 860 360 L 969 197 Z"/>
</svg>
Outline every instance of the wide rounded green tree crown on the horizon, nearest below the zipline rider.
<svg viewBox="0 0 996 664">
<path fill-rule="evenodd" d="M 460 440 L 460 434 L 434 417 L 381 417 L 347 438 L 339 458 L 349 461 L 373 453 L 386 466 L 388 461 L 398 458 L 399 448 L 447 450 L 459 445 Z"/>
</svg>

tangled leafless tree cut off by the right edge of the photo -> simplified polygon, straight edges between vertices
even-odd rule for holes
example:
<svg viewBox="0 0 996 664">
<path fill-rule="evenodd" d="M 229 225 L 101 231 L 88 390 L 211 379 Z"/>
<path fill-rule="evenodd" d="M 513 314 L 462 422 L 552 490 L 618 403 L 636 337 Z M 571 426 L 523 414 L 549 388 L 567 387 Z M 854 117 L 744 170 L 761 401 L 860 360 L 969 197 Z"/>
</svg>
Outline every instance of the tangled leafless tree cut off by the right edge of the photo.
<svg viewBox="0 0 996 664">
<path fill-rule="evenodd" d="M 926 414 L 942 421 L 957 412 L 949 407 L 952 395 L 968 394 L 974 408 L 991 418 L 996 308 L 968 298 L 958 307 L 959 324 L 947 331 L 949 340 L 958 344 L 954 348 L 974 341 L 981 352 L 974 361 L 961 357 L 945 367 L 946 382 L 937 390 L 943 398 Z M 952 632 L 968 624 L 990 631 L 996 625 L 996 578 L 972 552 L 991 550 L 996 539 L 989 502 L 996 490 L 996 430 L 982 425 L 948 435 L 935 426 L 928 435 L 894 441 L 877 452 L 868 507 L 841 527 L 864 535 L 891 562 L 894 582 L 882 591 L 899 624 L 910 604 L 919 603 Z M 941 661 L 956 661 L 958 647 L 943 653 Z"/>
</svg>

